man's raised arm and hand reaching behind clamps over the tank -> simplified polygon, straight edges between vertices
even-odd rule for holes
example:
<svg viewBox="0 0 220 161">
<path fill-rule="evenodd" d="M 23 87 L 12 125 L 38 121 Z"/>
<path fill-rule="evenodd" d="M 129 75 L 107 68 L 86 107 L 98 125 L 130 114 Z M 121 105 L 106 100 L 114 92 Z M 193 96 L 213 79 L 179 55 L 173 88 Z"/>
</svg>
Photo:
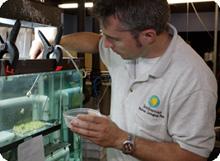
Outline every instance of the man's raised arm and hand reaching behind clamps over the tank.
<svg viewBox="0 0 220 161">
<path fill-rule="evenodd" d="M 100 35 L 93 32 L 77 32 L 62 37 L 60 44 L 70 51 L 97 53 Z M 51 40 L 49 40 L 51 42 Z M 39 40 L 34 40 L 30 49 L 31 59 L 42 57 L 43 46 Z"/>
</svg>

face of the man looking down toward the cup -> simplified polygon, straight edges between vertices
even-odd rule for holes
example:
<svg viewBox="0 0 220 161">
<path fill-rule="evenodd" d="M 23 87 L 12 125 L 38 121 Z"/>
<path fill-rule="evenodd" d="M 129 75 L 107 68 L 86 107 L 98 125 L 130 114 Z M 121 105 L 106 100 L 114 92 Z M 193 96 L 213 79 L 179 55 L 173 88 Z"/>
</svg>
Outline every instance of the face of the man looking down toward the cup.
<svg viewBox="0 0 220 161">
<path fill-rule="evenodd" d="M 117 18 L 110 16 L 102 26 L 104 45 L 111 48 L 123 59 L 136 59 L 143 54 L 139 38 L 134 38 L 130 31 L 123 30 Z"/>
</svg>

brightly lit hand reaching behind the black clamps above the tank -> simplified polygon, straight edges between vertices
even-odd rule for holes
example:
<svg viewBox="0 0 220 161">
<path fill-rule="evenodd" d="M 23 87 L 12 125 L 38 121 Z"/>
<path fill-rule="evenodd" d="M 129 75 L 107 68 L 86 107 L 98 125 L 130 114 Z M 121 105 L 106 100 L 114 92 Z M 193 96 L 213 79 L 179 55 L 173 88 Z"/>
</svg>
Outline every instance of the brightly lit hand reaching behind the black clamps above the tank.
<svg viewBox="0 0 220 161">
<path fill-rule="evenodd" d="M 39 40 L 33 40 L 29 56 L 31 59 L 41 59 L 43 54 L 43 45 Z"/>
</svg>

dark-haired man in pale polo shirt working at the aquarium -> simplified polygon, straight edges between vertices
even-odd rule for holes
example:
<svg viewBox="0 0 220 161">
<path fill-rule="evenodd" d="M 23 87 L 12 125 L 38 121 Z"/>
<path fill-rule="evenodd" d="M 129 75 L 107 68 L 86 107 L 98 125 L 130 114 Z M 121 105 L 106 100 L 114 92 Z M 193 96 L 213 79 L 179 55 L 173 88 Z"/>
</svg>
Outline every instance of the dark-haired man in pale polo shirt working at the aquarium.
<svg viewBox="0 0 220 161">
<path fill-rule="evenodd" d="M 167 1 L 96 0 L 94 12 L 102 36 L 74 33 L 61 44 L 99 51 L 112 78 L 111 119 L 79 115 L 72 131 L 108 147 L 109 161 L 207 160 L 215 142 L 216 80 L 168 24 Z"/>
</svg>

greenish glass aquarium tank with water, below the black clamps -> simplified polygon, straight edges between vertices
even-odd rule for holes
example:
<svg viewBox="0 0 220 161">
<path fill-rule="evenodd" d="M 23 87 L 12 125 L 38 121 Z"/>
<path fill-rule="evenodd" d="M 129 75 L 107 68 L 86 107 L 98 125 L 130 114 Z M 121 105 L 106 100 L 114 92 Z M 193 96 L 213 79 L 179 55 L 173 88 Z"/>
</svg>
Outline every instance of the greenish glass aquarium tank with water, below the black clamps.
<svg viewBox="0 0 220 161">
<path fill-rule="evenodd" d="M 47 131 L 45 145 L 67 142 L 73 157 L 69 160 L 81 160 L 80 140 L 62 115 L 80 106 L 82 78 L 76 70 L 1 76 L 0 149 L 6 152 L 19 140 Z"/>
</svg>

